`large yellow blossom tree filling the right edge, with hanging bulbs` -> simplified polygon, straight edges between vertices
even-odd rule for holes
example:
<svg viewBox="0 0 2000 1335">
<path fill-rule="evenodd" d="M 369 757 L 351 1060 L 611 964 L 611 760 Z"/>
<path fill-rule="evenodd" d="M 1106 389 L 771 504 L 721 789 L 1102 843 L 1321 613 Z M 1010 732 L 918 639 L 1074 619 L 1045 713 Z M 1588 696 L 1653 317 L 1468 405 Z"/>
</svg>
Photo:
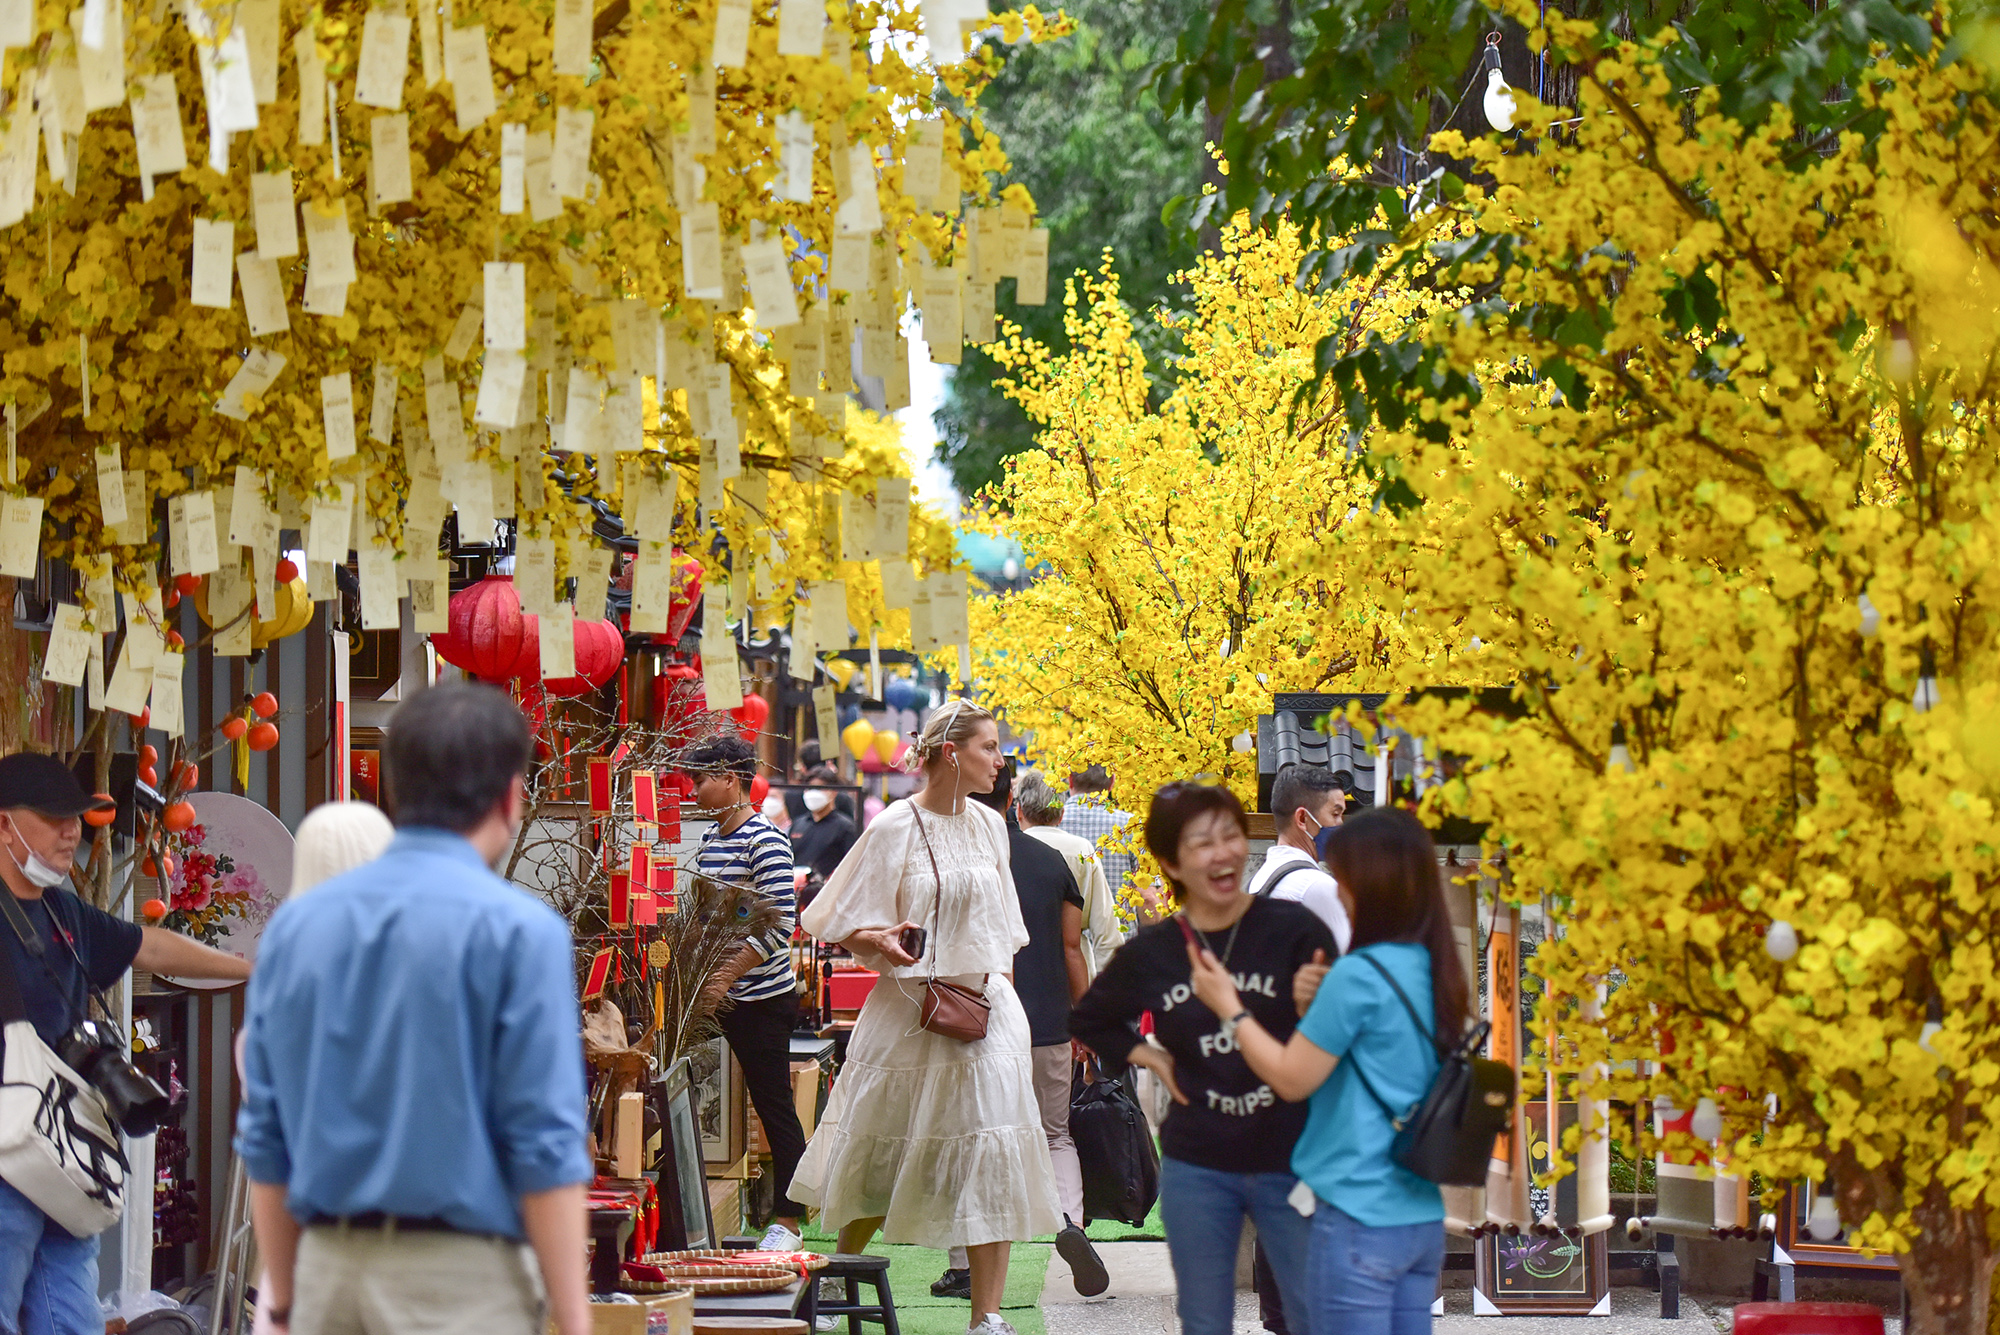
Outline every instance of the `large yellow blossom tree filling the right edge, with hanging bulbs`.
<svg viewBox="0 0 2000 1335">
<path fill-rule="evenodd" d="M 1454 278 L 1490 296 L 1370 438 L 1412 624 L 1476 634 L 1530 709 L 1396 719 L 1468 757 L 1430 801 L 1552 911 L 1534 1023 L 1566 1085 L 1714 1099 L 1700 1149 L 1822 1183 L 1900 1257 L 1912 1331 L 1984 1331 L 2000 108 L 1884 60 L 1866 132 L 1802 148 L 1782 110 L 1690 108 L 1658 46 L 1550 32 L 1592 56 L 1576 108 L 1516 94 L 1518 138 L 1436 144 L 1486 184 L 1420 226 L 1476 226 Z"/>
</svg>

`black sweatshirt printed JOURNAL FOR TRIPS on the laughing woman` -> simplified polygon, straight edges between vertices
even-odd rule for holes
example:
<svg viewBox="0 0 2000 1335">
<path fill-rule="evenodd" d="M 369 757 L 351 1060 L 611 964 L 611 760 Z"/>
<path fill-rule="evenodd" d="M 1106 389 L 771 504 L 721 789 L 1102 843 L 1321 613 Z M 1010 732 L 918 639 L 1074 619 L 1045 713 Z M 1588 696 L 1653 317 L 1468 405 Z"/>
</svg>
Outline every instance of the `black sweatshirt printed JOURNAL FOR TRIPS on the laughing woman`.
<svg viewBox="0 0 2000 1335">
<path fill-rule="evenodd" d="M 1210 931 L 1208 945 L 1236 977 L 1244 1009 L 1278 1041 L 1292 1037 L 1292 975 L 1324 949 L 1334 959 L 1334 933 L 1302 903 L 1258 897 L 1230 931 Z M 1170 1159 L 1224 1173 L 1288 1173 L 1292 1143 L 1306 1125 L 1304 1103 L 1284 1103 L 1224 1037 L 1222 1019 L 1188 985 L 1188 939 L 1174 917 L 1140 927 L 1118 947 L 1090 991 L 1070 1011 L 1070 1033 L 1104 1059 L 1124 1067 L 1140 1041 L 1138 1017 L 1152 1011 L 1152 1033 L 1174 1053 L 1174 1083 L 1188 1101 L 1172 1103 L 1160 1127 L 1160 1151 Z"/>
</svg>

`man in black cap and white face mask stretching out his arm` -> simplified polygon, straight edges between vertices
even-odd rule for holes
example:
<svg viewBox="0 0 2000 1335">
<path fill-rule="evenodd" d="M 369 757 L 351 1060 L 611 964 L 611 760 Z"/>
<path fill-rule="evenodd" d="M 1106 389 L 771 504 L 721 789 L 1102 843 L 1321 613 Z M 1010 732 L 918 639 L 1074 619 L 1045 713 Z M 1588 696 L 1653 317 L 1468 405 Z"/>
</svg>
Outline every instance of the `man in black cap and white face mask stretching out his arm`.
<svg viewBox="0 0 2000 1335">
<path fill-rule="evenodd" d="M 112 917 L 64 889 L 84 837 L 78 817 L 108 805 L 54 755 L 0 759 L 0 881 L 12 899 L 0 901 L 8 919 L 0 925 L 0 967 L 12 969 L 28 1021 L 50 1047 L 90 1019 L 88 993 L 132 965 L 174 977 L 250 977 L 248 959 Z M 0 1331 L 102 1329 L 98 1239 L 72 1237 L 0 1179 Z"/>
</svg>

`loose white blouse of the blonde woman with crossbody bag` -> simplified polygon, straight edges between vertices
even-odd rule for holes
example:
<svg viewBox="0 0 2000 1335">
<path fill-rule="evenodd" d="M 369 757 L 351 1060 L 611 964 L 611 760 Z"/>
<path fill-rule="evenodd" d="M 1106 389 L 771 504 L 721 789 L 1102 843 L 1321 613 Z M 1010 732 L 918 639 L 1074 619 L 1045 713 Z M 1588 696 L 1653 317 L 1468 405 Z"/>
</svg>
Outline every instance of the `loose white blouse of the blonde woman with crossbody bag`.
<svg viewBox="0 0 2000 1335">
<path fill-rule="evenodd" d="M 966 801 L 958 815 L 920 815 L 922 833 L 910 799 L 874 817 L 800 913 L 800 925 L 822 941 L 844 941 L 864 927 L 912 921 L 930 933 L 914 965 L 890 965 L 866 949 L 854 951 L 856 959 L 896 977 L 1006 973 L 1014 967 L 1014 951 L 1028 943 L 1008 865 L 1006 821 L 978 801 Z M 936 875 L 924 851 L 926 833 Z"/>
</svg>

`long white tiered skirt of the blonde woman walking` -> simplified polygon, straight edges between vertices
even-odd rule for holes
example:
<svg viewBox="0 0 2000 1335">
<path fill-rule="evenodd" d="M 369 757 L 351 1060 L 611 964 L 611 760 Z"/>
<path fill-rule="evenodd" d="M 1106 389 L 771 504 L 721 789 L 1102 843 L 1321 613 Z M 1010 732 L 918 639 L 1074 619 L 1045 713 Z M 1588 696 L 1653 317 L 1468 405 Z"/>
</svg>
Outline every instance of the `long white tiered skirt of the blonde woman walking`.
<svg viewBox="0 0 2000 1335">
<path fill-rule="evenodd" d="M 978 987 L 978 977 L 954 983 Z M 882 977 L 848 1039 L 792 1199 L 822 1227 L 882 1217 L 882 1241 L 976 1247 L 1062 1227 L 1028 1055 L 1028 1015 L 1004 975 L 986 981 L 986 1037 L 918 1027 L 924 985 Z"/>
</svg>

